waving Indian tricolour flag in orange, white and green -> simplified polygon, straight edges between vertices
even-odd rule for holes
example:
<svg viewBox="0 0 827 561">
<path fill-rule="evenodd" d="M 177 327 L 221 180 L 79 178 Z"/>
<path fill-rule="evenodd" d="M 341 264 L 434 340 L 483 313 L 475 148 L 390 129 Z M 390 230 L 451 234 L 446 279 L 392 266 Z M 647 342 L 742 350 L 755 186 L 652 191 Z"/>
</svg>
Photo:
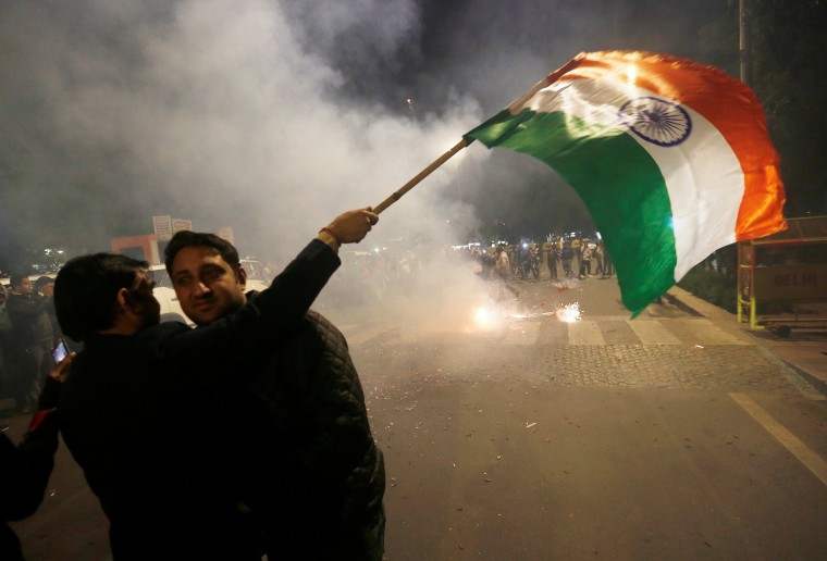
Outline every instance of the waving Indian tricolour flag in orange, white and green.
<svg viewBox="0 0 827 561">
<path fill-rule="evenodd" d="M 716 249 L 787 227 L 761 103 L 687 59 L 581 53 L 465 138 L 539 158 L 575 188 L 634 315 Z"/>
</svg>

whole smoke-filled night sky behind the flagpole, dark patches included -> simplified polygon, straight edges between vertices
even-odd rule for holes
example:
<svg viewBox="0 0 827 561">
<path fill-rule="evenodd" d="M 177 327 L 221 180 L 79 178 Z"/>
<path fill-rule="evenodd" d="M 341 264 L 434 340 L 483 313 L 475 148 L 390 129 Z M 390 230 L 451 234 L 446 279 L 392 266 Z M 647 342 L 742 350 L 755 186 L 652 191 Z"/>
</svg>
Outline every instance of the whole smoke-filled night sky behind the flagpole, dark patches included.
<svg viewBox="0 0 827 561">
<path fill-rule="evenodd" d="M 726 8 L 701 3 L 715 9 L 3 0 L 0 269 L 18 247 L 108 250 L 112 237 L 151 233 L 159 214 L 232 226 L 243 253 L 288 259 L 577 52 L 696 55 L 698 30 Z M 527 160 L 471 146 L 355 249 L 588 225 L 571 189 Z"/>
</svg>

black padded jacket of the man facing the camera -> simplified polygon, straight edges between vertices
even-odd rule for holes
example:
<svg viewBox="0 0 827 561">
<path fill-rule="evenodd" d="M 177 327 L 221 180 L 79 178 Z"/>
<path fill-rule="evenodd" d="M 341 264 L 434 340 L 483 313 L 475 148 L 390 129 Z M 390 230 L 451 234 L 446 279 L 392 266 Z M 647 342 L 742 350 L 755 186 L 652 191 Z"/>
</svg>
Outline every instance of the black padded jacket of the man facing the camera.
<svg viewBox="0 0 827 561">
<path fill-rule="evenodd" d="M 342 333 L 309 311 L 252 389 L 272 421 L 251 494 L 270 559 L 381 560 L 384 461 Z"/>
</svg>

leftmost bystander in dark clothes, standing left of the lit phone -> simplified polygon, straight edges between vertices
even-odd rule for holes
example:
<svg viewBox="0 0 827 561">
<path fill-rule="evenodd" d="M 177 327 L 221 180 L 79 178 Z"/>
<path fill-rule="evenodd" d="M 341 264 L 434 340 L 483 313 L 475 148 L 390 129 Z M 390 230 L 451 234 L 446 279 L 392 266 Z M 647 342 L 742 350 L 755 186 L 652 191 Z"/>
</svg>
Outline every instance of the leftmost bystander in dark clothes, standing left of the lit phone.
<svg viewBox="0 0 827 561">
<path fill-rule="evenodd" d="M 13 274 L 11 285 L 5 306 L 18 366 L 12 394 L 16 402 L 15 413 L 24 414 L 37 407 L 37 396 L 51 372 L 53 333 L 47 309 L 52 299 L 35 292 L 32 279 L 25 274 Z"/>
</svg>

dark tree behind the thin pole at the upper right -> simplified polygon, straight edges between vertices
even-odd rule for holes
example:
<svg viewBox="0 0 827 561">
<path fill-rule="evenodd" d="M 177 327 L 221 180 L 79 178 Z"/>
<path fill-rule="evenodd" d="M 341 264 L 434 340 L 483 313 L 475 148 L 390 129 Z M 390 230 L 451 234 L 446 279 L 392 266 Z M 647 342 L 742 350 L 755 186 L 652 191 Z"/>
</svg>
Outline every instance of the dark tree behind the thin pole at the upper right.
<svg viewBox="0 0 827 561">
<path fill-rule="evenodd" d="M 739 2 L 700 35 L 705 60 L 739 76 Z M 827 1 L 745 0 L 746 83 L 781 155 L 787 216 L 827 214 Z"/>
</svg>

